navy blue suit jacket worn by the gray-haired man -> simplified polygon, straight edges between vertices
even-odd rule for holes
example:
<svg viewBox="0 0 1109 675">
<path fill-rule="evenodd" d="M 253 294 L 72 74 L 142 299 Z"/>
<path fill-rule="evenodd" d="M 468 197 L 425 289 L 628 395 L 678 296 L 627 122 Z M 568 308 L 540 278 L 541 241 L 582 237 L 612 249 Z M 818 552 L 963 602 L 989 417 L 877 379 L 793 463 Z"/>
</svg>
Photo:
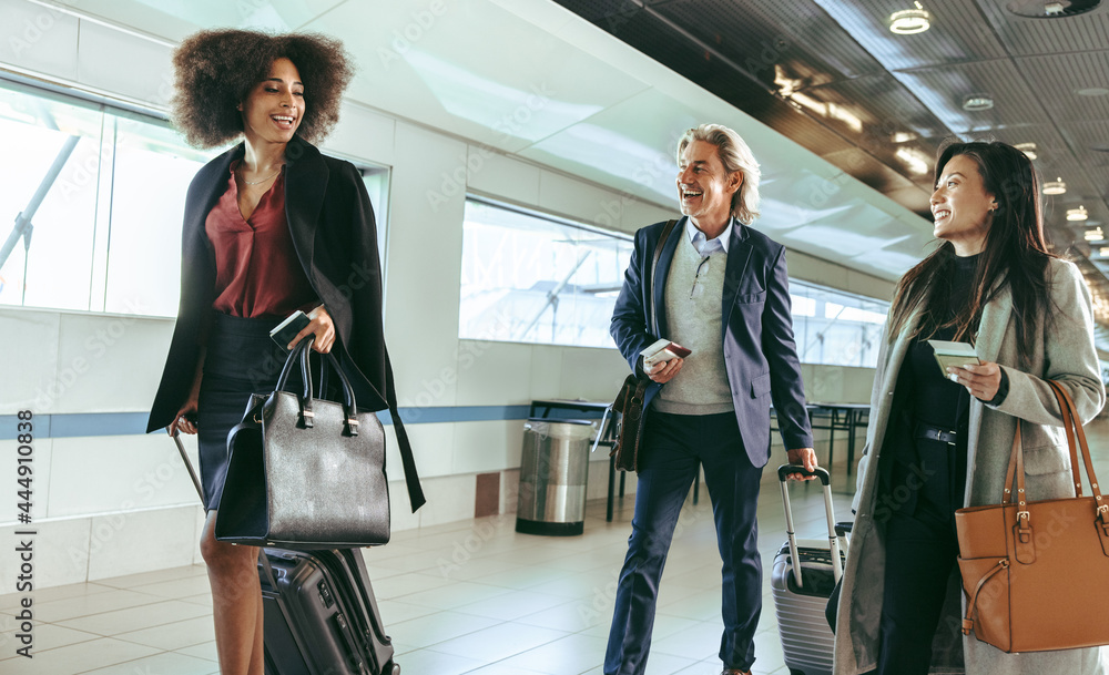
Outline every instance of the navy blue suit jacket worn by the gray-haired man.
<svg viewBox="0 0 1109 675">
<path fill-rule="evenodd" d="M 632 370 L 641 372 L 640 351 L 667 336 L 667 276 L 678 242 L 686 236 L 685 219 L 679 221 L 667 238 L 655 273 L 651 305 L 658 311 L 661 336 L 651 335 L 644 307 L 648 275 L 665 223 L 655 223 L 635 233 L 635 249 L 609 329 Z M 812 448 L 813 432 L 793 339 L 785 247 L 734 218 L 732 224 L 721 304 L 724 366 L 744 449 L 752 464 L 763 467 L 770 459 L 772 400 L 787 449 Z M 648 407 L 663 386 L 651 382 L 647 391 Z"/>
</svg>

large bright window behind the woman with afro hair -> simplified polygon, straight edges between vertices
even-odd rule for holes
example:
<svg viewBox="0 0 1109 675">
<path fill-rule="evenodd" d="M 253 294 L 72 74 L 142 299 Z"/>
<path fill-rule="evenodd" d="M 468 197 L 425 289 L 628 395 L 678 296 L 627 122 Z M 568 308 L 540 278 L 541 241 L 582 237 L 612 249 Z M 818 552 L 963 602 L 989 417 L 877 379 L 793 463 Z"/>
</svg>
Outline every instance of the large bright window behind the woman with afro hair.
<svg viewBox="0 0 1109 675">
<path fill-rule="evenodd" d="M 3 80 L 0 137 L 0 305 L 174 316 L 185 192 L 221 151 L 155 113 Z M 388 170 L 363 175 L 384 256 Z"/>
</svg>

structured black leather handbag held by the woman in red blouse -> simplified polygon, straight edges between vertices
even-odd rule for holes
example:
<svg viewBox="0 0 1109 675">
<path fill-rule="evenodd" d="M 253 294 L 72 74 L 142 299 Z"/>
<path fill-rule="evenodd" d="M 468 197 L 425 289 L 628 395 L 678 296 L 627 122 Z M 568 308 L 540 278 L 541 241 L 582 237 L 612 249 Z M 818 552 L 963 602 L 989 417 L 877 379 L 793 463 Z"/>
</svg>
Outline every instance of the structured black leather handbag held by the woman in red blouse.
<svg viewBox="0 0 1109 675">
<path fill-rule="evenodd" d="M 254 546 L 354 548 L 389 541 L 385 430 L 358 412 L 354 390 L 330 354 L 343 402 L 312 397 L 308 349 L 289 354 L 268 395 L 254 395 L 227 436 L 231 460 L 217 507 L 215 538 Z M 299 361 L 303 391 L 283 391 Z"/>
</svg>

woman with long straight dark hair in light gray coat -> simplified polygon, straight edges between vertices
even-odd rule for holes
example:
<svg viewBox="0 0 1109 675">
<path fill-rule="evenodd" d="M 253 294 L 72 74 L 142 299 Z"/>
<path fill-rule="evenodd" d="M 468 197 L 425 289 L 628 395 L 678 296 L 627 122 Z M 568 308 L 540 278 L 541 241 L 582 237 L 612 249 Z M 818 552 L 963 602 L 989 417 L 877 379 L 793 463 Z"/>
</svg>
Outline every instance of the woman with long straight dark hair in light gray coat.
<svg viewBox="0 0 1109 675">
<path fill-rule="evenodd" d="M 1031 162 L 1004 143 L 940 151 L 944 243 L 897 285 L 871 398 L 836 673 L 1105 672 L 1099 650 L 1006 654 L 960 635 L 955 510 L 1001 501 L 1020 423 L 1028 500 L 1074 497 L 1060 382 L 1082 421 L 1105 403 L 1090 293 L 1044 239 Z M 928 340 L 973 345 L 942 370 Z M 1076 583 L 1080 583 L 1076 580 Z"/>
</svg>

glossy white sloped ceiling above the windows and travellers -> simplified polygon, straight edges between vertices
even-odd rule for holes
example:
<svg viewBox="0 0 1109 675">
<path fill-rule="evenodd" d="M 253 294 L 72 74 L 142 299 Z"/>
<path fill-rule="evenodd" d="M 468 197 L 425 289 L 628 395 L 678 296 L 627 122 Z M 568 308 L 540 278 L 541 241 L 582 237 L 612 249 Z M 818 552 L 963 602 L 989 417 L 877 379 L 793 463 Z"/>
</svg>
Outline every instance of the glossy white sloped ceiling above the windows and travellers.
<svg viewBox="0 0 1109 675">
<path fill-rule="evenodd" d="M 37 1 L 173 43 L 324 32 L 357 62 L 348 99 L 667 207 L 678 136 L 719 122 L 762 164 L 755 227 L 783 244 L 891 280 L 932 246 L 927 221 L 549 0 Z"/>
</svg>

